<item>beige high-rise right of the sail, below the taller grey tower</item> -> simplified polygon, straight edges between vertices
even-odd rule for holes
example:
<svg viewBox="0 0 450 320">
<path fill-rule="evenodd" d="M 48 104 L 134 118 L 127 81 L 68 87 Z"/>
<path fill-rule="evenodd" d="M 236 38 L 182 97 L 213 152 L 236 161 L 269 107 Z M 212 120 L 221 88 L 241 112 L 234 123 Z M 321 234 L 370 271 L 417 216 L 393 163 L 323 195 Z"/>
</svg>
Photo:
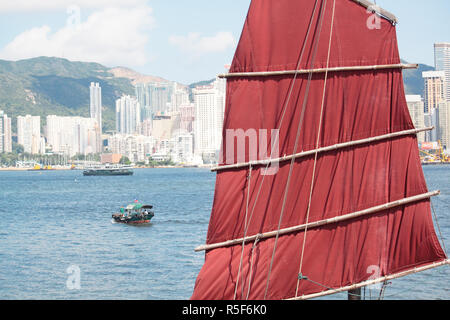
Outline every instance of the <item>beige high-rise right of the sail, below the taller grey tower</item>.
<svg viewBox="0 0 450 320">
<path fill-rule="evenodd" d="M 439 104 L 446 100 L 445 72 L 427 71 L 422 73 L 422 77 L 425 81 L 425 113 L 431 113 L 432 109 L 439 108 Z"/>
</svg>

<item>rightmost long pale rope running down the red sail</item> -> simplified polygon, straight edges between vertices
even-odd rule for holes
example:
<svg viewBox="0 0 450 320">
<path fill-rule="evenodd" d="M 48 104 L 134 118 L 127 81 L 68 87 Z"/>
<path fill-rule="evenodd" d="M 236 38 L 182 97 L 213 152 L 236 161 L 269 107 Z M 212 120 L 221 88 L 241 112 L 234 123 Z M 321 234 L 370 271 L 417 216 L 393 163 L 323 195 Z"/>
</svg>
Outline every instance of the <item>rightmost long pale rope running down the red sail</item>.
<svg viewBox="0 0 450 320">
<path fill-rule="evenodd" d="M 336 0 L 333 0 L 333 11 L 331 14 L 331 27 L 330 27 L 330 39 L 328 42 L 328 56 L 327 56 L 327 68 L 330 64 L 330 52 L 331 52 L 331 40 L 333 38 L 333 25 L 334 25 L 334 14 L 335 14 L 335 8 L 336 8 Z M 322 121 L 323 121 L 323 110 L 325 107 L 325 92 L 327 89 L 327 80 L 328 80 L 328 72 L 325 72 L 325 82 L 323 85 L 323 93 L 322 93 L 322 105 L 320 107 L 320 118 L 319 118 L 319 128 L 317 132 L 317 141 L 316 141 L 316 149 L 319 148 L 320 143 L 320 135 L 322 133 Z M 317 156 L 318 152 L 314 155 L 314 166 L 313 166 L 313 172 L 312 172 L 312 178 L 311 178 L 311 188 L 309 191 L 309 200 L 308 200 L 308 210 L 306 213 L 306 225 L 308 225 L 309 222 L 309 215 L 311 213 L 311 200 L 312 200 L 312 193 L 314 190 L 314 180 L 315 180 L 315 174 L 316 174 L 316 166 L 317 166 Z M 304 236 L 303 236 L 303 245 L 302 245 L 302 251 L 301 251 L 301 257 L 300 257 L 300 268 L 298 274 L 302 274 L 302 268 L 303 268 L 303 257 L 305 253 L 305 246 L 306 246 L 306 234 L 308 233 L 308 227 L 306 227 Z M 298 296 L 298 289 L 300 286 L 300 279 L 297 278 L 297 288 L 295 290 L 295 296 Z"/>
</svg>

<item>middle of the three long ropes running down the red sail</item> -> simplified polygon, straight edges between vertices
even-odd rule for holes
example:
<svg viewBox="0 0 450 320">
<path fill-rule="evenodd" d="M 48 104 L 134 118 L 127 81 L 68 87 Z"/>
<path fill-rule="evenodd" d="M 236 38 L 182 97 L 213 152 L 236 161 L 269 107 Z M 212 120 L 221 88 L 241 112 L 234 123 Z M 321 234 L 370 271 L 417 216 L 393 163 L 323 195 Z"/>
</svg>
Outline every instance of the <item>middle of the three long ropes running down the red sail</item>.
<svg viewBox="0 0 450 320">
<path fill-rule="evenodd" d="M 323 25 L 323 20 L 324 20 L 324 15 L 325 15 L 326 4 L 327 4 L 327 0 L 323 0 L 322 1 L 321 12 L 320 12 L 320 15 L 319 15 L 320 20 L 319 20 L 318 36 L 317 36 L 317 40 L 316 40 L 316 43 L 315 43 L 315 46 L 314 46 L 313 56 L 312 56 L 312 59 L 311 59 L 311 68 L 314 67 L 314 61 L 316 59 L 316 54 L 317 54 L 318 47 L 319 47 L 320 34 L 321 34 L 321 31 L 322 31 L 322 25 Z M 311 87 L 311 80 L 312 80 L 312 73 L 309 73 L 308 81 L 307 81 L 307 87 L 306 87 L 306 91 L 305 91 L 305 97 L 304 97 L 304 100 L 303 100 L 302 112 L 301 112 L 299 123 L 298 123 L 298 126 L 297 126 L 297 135 L 296 135 L 296 138 L 295 138 L 295 145 L 294 145 L 294 152 L 293 152 L 293 154 L 295 154 L 297 152 L 297 147 L 298 147 L 298 142 L 299 142 L 299 138 L 300 138 L 300 133 L 301 133 L 301 129 L 303 127 L 303 118 L 304 118 L 304 115 L 305 115 L 306 104 L 308 102 L 309 89 Z M 291 177 L 292 177 L 292 171 L 293 171 L 294 163 L 295 163 L 295 158 L 292 158 L 291 164 L 290 164 L 290 167 L 289 167 L 289 175 L 288 175 L 288 179 L 287 179 L 287 182 L 286 182 L 286 187 L 285 187 L 285 190 L 284 190 L 283 205 L 282 205 L 282 208 L 281 208 L 280 218 L 279 218 L 279 221 L 278 221 L 278 232 L 277 232 L 277 235 L 276 235 L 276 238 L 275 238 L 275 244 L 274 244 L 273 251 L 272 251 L 272 258 L 271 258 L 271 261 L 270 261 L 269 272 L 268 272 L 268 275 L 267 275 L 266 289 L 265 289 L 265 292 L 264 292 L 264 300 L 266 300 L 267 293 L 269 291 L 270 276 L 271 276 L 271 273 L 272 273 L 273 262 L 274 262 L 275 253 L 276 253 L 277 244 L 278 244 L 279 230 L 281 229 L 281 223 L 282 223 L 283 216 L 284 216 L 284 210 L 286 208 L 286 200 L 287 200 L 287 195 L 288 195 L 288 192 L 289 192 L 290 180 L 291 180 Z"/>
</svg>

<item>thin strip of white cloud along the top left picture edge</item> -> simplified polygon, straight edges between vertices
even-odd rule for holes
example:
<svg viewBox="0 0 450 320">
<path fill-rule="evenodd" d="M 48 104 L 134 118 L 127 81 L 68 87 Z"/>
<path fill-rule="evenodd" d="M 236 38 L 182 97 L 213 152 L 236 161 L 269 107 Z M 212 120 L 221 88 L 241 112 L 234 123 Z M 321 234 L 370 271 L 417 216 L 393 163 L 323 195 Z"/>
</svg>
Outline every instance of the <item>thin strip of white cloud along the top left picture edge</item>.
<svg viewBox="0 0 450 320">
<path fill-rule="evenodd" d="M 106 7 L 134 7 L 145 5 L 147 0 L 14 0 L 0 2 L 0 13 L 64 10 L 70 6 L 81 9 Z"/>
</svg>

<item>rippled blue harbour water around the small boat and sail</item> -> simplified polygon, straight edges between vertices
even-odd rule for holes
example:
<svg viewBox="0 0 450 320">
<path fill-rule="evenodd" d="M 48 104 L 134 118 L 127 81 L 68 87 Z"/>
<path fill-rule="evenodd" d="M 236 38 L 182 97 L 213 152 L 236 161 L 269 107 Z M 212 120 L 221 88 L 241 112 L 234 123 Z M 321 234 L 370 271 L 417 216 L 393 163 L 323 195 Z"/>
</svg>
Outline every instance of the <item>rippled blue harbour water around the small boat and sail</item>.
<svg viewBox="0 0 450 320">
<path fill-rule="evenodd" d="M 429 189 L 442 191 L 433 204 L 450 248 L 450 167 L 425 174 Z M 203 264 L 194 248 L 205 241 L 214 184 L 207 169 L 142 169 L 132 177 L 0 172 L 0 299 L 188 299 Z M 111 214 L 134 199 L 154 205 L 152 224 L 112 223 Z M 394 280 L 385 297 L 450 299 L 449 269 Z"/>
</svg>

